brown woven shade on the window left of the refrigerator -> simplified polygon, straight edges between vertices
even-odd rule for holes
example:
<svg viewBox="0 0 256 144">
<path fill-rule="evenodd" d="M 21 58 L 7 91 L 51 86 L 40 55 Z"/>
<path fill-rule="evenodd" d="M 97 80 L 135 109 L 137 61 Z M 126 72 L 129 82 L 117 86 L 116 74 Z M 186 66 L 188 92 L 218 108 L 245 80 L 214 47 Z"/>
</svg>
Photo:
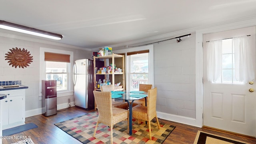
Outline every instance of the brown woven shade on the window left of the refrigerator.
<svg viewBox="0 0 256 144">
<path fill-rule="evenodd" d="M 70 55 L 56 54 L 51 52 L 44 52 L 44 61 L 51 62 L 70 62 Z"/>
</svg>

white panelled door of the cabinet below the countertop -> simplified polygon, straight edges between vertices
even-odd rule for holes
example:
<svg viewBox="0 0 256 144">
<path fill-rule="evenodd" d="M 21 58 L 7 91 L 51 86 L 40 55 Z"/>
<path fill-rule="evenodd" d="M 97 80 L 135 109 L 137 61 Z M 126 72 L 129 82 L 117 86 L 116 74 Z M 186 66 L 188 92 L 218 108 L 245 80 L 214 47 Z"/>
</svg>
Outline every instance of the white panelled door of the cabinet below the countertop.
<svg viewBox="0 0 256 144">
<path fill-rule="evenodd" d="M 23 120 L 23 98 L 13 96 L 9 98 L 9 124 L 21 122 Z"/>
</svg>

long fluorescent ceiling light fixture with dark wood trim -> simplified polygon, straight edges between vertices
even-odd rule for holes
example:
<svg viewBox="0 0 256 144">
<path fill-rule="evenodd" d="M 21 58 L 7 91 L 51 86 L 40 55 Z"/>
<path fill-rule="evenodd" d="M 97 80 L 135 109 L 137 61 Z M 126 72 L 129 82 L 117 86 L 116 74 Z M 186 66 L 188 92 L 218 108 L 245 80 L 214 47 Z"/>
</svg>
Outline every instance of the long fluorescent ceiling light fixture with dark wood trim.
<svg viewBox="0 0 256 144">
<path fill-rule="evenodd" d="M 13 24 L 10 22 L 6 22 L 4 20 L 0 20 L 0 28 L 6 29 L 6 30 L 12 30 L 15 32 L 22 32 L 25 34 L 32 34 L 34 36 L 41 36 L 44 38 L 51 38 L 54 40 L 61 40 L 62 39 L 62 35 L 61 34 L 55 34 L 52 32 L 46 32 L 44 30 L 38 30 L 35 28 L 30 28 L 27 26 L 22 26 L 19 24 Z"/>
</svg>

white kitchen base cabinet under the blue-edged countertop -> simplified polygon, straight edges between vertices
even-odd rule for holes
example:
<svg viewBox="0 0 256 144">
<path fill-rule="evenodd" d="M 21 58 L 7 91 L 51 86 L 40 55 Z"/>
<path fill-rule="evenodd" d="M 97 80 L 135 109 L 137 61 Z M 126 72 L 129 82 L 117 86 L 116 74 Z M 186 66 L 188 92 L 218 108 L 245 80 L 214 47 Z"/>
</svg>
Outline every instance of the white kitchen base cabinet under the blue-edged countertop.
<svg viewBox="0 0 256 144">
<path fill-rule="evenodd" d="M 7 98 L 1 100 L 2 129 L 25 124 L 25 89 L 3 90 Z"/>
</svg>

